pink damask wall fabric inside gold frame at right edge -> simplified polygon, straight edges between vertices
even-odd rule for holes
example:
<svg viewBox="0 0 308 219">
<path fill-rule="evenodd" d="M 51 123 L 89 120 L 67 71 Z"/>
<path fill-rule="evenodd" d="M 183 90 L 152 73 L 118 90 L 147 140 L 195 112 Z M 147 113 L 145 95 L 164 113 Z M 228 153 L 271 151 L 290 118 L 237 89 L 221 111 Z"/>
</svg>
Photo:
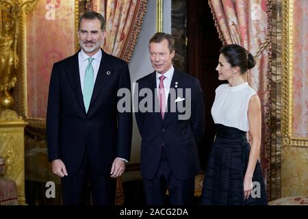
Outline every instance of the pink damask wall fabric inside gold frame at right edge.
<svg viewBox="0 0 308 219">
<path fill-rule="evenodd" d="M 293 135 L 308 137 L 308 2 L 294 1 Z"/>
</svg>

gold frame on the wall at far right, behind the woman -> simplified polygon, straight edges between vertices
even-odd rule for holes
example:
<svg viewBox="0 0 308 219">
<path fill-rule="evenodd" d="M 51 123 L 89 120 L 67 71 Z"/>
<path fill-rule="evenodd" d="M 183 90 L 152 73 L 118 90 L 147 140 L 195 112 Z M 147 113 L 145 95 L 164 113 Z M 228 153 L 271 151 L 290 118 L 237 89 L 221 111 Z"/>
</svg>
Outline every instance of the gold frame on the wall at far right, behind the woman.
<svg viewBox="0 0 308 219">
<path fill-rule="evenodd" d="M 293 67 L 294 67 L 294 0 L 283 0 L 283 78 L 282 141 L 283 146 L 307 147 L 308 138 L 294 136 L 293 131 Z"/>
</svg>

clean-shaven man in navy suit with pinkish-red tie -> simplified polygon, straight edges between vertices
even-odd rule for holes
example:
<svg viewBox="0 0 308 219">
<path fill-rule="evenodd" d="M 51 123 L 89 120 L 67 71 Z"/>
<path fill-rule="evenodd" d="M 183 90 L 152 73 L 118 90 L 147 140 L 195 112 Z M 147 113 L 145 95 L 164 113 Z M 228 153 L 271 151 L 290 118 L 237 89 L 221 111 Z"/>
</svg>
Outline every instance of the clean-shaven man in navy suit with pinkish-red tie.
<svg viewBox="0 0 308 219">
<path fill-rule="evenodd" d="M 153 93 L 138 97 L 136 112 L 148 205 L 164 205 L 167 189 L 172 205 L 191 205 L 194 177 L 201 169 L 197 142 L 205 129 L 203 92 L 198 79 L 173 68 L 173 43 L 170 34 L 157 33 L 151 38 L 149 52 L 155 71 L 136 83 L 138 96 L 149 89 Z M 152 102 L 145 101 L 149 96 Z"/>
</svg>

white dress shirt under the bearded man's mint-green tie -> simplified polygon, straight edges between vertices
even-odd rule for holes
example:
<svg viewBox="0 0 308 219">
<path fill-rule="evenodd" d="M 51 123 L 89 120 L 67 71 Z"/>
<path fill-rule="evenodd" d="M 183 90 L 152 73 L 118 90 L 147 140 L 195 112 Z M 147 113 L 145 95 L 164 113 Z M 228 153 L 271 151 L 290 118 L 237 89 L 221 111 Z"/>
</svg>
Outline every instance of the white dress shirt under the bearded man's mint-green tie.
<svg viewBox="0 0 308 219">
<path fill-rule="evenodd" d="M 97 73 L 99 73 L 99 65 L 101 64 L 101 57 L 102 57 L 102 52 L 101 49 L 92 55 L 94 60 L 92 61 L 92 67 L 94 71 L 94 83 L 95 80 L 97 79 Z M 84 53 L 84 51 L 81 49 L 81 51 L 78 53 L 78 63 L 79 63 L 79 76 L 80 76 L 80 85 L 81 85 L 81 91 L 82 94 L 84 94 L 84 75 L 86 73 L 86 68 L 89 64 L 88 58 L 90 56 Z M 125 162 L 128 162 L 127 159 L 117 157 L 119 159 L 124 160 Z"/>
</svg>

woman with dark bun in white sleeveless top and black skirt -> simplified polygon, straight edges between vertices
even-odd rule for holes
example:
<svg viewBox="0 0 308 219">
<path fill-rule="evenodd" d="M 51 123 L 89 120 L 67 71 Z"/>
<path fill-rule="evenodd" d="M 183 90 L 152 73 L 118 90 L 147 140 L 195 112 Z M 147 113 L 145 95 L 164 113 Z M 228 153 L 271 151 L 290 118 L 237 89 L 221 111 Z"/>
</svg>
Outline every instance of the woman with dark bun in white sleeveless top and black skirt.
<svg viewBox="0 0 308 219">
<path fill-rule="evenodd" d="M 216 139 L 205 170 L 202 205 L 267 205 L 258 161 L 261 103 L 243 77 L 253 66 L 253 55 L 237 44 L 220 50 L 218 79 L 229 83 L 216 88 L 211 108 Z M 246 132 L 251 136 L 251 144 Z"/>
</svg>

